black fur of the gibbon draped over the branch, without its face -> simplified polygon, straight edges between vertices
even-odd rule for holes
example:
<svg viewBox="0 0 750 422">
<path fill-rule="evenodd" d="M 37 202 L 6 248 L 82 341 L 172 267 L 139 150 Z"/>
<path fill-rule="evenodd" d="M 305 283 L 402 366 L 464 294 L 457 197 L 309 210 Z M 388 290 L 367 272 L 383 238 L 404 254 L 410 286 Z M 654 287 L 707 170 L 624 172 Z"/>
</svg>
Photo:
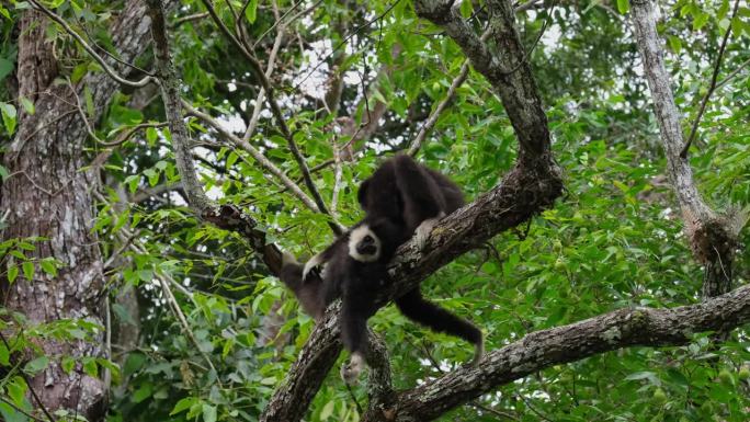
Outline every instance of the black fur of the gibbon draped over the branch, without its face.
<svg viewBox="0 0 750 422">
<path fill-rule="evenodd" d="M 285 263 L 281 277 L 316 319 L 340 296 L 342 342 L 352 355 L 364 355 L 367 319 L 377 311 L 374 298 L 387 282 L 386 267 L 396 249 L 422 223 L 451 214 L 464 204 L 464 198 L 461 189 L 448 178 L 405 155 L 385 161 L 361 184 L 357 198 L 366 216 L 321 252 L 320 261 L 326 263 L 322 276 L 310 273 L 302 281 L 302 266 L 295 261 Z M 362 262 L 350 253 L 352 233 L 362 227 L 370 228 L 380 242 L 378 258 L 373 262 Z M 434 331 L 459 337 L 481 353 L 481 331 L 425 300 L 419 287 L 395 301 L 407 318 Z"/>
</svg>

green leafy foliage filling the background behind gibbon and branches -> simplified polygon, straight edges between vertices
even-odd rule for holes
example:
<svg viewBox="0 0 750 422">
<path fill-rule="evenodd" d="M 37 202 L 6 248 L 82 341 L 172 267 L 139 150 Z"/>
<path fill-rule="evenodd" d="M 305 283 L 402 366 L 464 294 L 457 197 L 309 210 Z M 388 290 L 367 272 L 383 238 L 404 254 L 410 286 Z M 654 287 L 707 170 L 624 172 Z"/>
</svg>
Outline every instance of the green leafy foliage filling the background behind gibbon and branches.
<svg viewBox="0 0 750 422">
<path fill-rule="evenodd" d="M 229 0 L 215 7 L 232 26 L 243 3 Z M 356 159 L 342 162 L 337 214 L 349 225 L 361 215 L 357 183 L 380 157 L 409 147 L 465 57 L 447 36 L 419 21 L 408 1 L 294 3 L 252 0 L 239 19 L 263 64 L 272 55 L 276 32 L 286 31 L 271 81 L 279 87 L 277 100 L 308 166 L 319 169 L 315 182 L 329 204 L 336 185 L 333 148 L 352 138 L 342 135 L 340 122 L 349 118 L 359 127 L 376 104 L 387 110 L 370 138 L 351 145 Z M 478 30 L 487 20 L 480 3 L 462 3 L 462 12 Z M 750 59 L 750 9 L 741 5 L 730 20 L 729 3 L 668 2 L 661 10 L 668 19 L 660 27 L 685 130 L 705 94 L 708 64 L 716 58 L 720 37 L 732 30 L 718 90 L 691 150 L 700 187 L 720 209 L 750 202 L 750 68 L 742 68 Z M 0 7 L 5 16 L 0 18 L 4 82 L 13 78 L 8 68 L 16 54 L 10 33 L 26 7 L 14 5 Z M 71 25 L 87 30 L 92 43 L 116 55 L 106 31 L 115 4 L 50 5 Z M 547 2 L 518 16 L 530 50 L 541 34 L 530 60 L 548 107 L 567 195 L 527 230 L 498 236 L 423 284 L 427 297 L 482 327 L 488 349 L 617 308 L 700 300 L 702 269 L 685 244 L 664 176 L 666 160 L 627 11 L 626 0 Z M 186 0 L 171 16 L 170 42 L 188 87 L 184 98 L 241 137 L 252 119 L 260 83 L 209 18 L 183 20 L 202 12 L 202 2 Z M 275 23 L 279 19 L 283 24 Z M 78 82 L 102 72 L 59 27 L 50 26 L 47 37 L 66 52 L 61 77 Z M 149 69 L 150 55 L 136 65 Z M 340 101 L 326 104 L 325 94 L 337 78 L 344 81 Z M 1 92 L 8 93 L 4 88 Z M 112 140 L 137 124 L 160 122 L 159 101 L 140 96 L 127 91 L 115 95 L 96 135 Z M 23 98 L 7 95 L 0 102 L 1 140 L 13 135 L 21 110 L 35 112 Z M 302 173 L 265 105 L 258 118 L 250 145 L 299 180 Z M 241 206 L 265 228 L 269 241 L 296 255 L 311 255 L 332 240 L 329 217 L 307 208 L 251 155 L 204 122 L 190 117 L 189 123 L 201 180 L 212 197 Z M 107 184 L 96 199 L 93 229 L 109 258 L 110 360 L 71 362 L 67 356 L 42 356 L 35 347 L 43 339 L 81 340 L 105 328 L 86 319 L 37 324 L 0 307 L 0 332 L 16 333 L 0 344 L 4 420 L 25 421 L 16 409 L 32 409 L 21 374 L 58 363 L 66 370 L 111 373 L 112 422 L 255 421 L 283 381 L 314 322 L 245 238 L 191 214 L 169 141 L 167 128 L 139 130 L 112 150 L 103 169 Z M 90 147 L 92 159 L 105 149 L 93 140 Z M 469 72 L 419 157 L 450 174 L 468 198 L 489 190 L 511 168 L 513 130 L 481 76 Z M 4 179 L 3 170 L 0 167 Z M 741 243 L 749 240 L 745 230 Z M 24 249 L 34 248 L 35 241 L 0 244 L 0 272 L 8 282 L 31 280 L 34 271 L 55 276 L 59 264 L 53 256 L 25 258 Z M 750 255 L 739 253 L 737 284 L 747 283 L 748 269 Z M 135 300 L 127 300 L 133 292 Z M 398 388 L 440 376 L 470 358 L 466 344 L 414 326 L 393 306 L 380 310 L 371 327 L 388 345 Z M 128 335 L 134 330 L 135 337 Z M 442 420 L 495 421 L 501 414 L 518 421 L 739 422 L 750 419 L 749 378 L 747 328 L 720 346 L 702 333 L 684 347 L 634 347 L 550 367 Z M 365 388 L 355 388 L 354 395 L 365 400 Z M 359 420 L 337 374 L 329 375 L 307 420 Z"/>
</svg>

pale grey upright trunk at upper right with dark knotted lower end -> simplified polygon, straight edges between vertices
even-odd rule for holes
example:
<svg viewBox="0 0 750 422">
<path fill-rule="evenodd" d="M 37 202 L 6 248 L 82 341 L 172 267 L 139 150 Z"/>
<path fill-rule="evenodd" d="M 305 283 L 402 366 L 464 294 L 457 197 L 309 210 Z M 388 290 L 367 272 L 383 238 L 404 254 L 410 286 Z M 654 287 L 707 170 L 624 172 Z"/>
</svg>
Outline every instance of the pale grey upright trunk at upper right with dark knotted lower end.
<svg viewBox="0 0 750 422">
<path fill-rule="evenodd" d="M 706 266 L 703 295 L 717 296 L 731 288 L 734 250 L 746 216 L 739 212 L 734 215 L 718 215 L 701 196 L 690 162 L 681 156 L 685 144 L 680 115 L 672 96 L 670 76 L 664 68 L 663 43 L 657 33 L 655 7 L 650 0 L 634 0 L 632 4 L 636 42 L 654 100 L 667 156 L 667 170 L 682 209 L 693 255 Z"/>
</svg>

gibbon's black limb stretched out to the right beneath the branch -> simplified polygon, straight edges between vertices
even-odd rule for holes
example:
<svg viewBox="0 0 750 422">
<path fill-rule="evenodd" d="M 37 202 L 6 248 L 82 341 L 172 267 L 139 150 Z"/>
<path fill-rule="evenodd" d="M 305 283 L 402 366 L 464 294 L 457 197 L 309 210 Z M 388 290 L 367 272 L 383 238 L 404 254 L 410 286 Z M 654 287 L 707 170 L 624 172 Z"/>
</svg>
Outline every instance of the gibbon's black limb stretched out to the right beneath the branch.
<svg viewBox="0 0 750 422">
<path fill-rule="evenodd" d="M 395 300 L 398 309 L 407 318 L 414 322 L 432 329 L 433 331 L 444 332 L 455 335 L 474 344 L 473 365 L 476 365 L 485 354 L 485 342 L 481 331 L 471 322 L 451 313 L 438 305 L 425 300 L 419 287 L 407 293 Z"/>
</svg>

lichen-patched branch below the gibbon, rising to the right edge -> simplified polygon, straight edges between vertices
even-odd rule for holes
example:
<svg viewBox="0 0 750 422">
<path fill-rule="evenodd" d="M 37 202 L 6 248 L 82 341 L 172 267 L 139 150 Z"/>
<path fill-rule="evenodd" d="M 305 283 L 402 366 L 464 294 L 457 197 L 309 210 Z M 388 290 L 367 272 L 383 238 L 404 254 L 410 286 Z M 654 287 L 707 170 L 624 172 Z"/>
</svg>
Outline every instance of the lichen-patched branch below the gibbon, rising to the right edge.
<svg viewBox="0 0 750 422">
<path fill-rule="evenodd" d="M 688 344 L 694 333 L 727 331 L 750 322 L 750 285 L 698 305 L 620 309 L 569 326 L 533 332 L 399 395 L 389 421 L 430 421 L 498 386 L 550 367 L 629 346 Z M 364 418 L 363 421 L 385 421 Z"/>
</svg>

